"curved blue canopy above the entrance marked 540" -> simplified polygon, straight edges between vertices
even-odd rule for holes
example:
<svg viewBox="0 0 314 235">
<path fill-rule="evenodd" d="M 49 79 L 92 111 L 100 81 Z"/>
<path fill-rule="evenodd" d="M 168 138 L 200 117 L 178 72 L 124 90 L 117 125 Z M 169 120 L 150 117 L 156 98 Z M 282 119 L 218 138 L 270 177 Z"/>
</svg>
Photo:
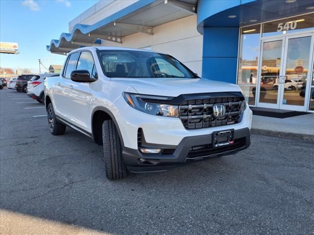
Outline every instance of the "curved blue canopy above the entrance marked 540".
<svg viewBox="0 0 314 235">
<path fill-rule="evenodd" d="M 313 12 L 314 0 L 199 0 L 197 30 L 239 27 Z"/>
</svg>

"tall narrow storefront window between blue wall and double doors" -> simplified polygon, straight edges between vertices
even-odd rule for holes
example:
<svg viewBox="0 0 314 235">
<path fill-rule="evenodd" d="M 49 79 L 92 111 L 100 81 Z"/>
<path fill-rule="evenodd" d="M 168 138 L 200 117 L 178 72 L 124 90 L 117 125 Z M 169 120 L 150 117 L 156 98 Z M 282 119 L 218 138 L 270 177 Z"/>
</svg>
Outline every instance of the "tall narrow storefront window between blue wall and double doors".
<svg viewBox="0 0 314 235">
<path fill-rule="evenodd" d="M 260 54 L 261 25 L 241 28 L 237 84 L 246 101 L 255 105 L 257 72 Z"/>
</svg>

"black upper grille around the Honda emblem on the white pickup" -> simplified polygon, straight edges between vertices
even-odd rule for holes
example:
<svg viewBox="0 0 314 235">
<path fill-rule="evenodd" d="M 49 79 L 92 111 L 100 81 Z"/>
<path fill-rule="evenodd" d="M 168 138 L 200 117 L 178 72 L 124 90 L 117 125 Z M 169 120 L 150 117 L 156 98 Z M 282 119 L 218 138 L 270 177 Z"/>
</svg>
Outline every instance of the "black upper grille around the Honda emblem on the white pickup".
<svg viewBox="0 0 314 235">
<path fill-rule="evenodd" d="M 215 118 L 213 105 L 224 104 L 225 116 Z M 180 105 L 180 119 L 186 129 L 201 129 L 214 126 L 224 126 L 239 122 L 244 110 L 244 97 L 210 97 L 207 99 L 189 99 Z"/>
</svg>

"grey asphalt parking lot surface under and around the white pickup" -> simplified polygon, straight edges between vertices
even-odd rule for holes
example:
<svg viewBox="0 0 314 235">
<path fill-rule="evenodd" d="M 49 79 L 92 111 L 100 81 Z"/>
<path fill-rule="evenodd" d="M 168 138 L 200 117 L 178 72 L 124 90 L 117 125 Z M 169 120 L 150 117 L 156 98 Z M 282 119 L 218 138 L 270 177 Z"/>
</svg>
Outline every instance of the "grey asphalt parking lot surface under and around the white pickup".
<svg viewBox="0 0 314 235">
<path fill-rule="evenodd" d="M 314 234 L 312 142 L 253 135 L 232 156 L 109 181 L 102 146 L 52 136 L 45 115 L 0 91 L 1 234 Z"/>
</svg>

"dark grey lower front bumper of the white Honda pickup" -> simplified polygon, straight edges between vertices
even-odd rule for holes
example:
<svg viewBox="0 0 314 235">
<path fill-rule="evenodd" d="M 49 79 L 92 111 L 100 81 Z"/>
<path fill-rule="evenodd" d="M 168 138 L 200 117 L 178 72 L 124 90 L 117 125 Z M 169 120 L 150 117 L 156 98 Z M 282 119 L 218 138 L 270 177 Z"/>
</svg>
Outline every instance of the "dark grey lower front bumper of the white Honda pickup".
<svg viewBox="0 0 314 235">
<path fill-rule="evenodd" d="M 131 172 L 164 171 L 168 168 L 191 163 L 197 160 L 234 154 L 246 149 L 251 144 L 249 128 L 234 131 L 234 144 L 218 148 L 211 147 L 212 134 L 184 137 L 175 147 L 172 154 L 143 154 L 138 149 L 124 147 L 122 154 L 124 162 Z M 193 150 L 194 147 L 206 146 L 204 150 Z M 151 145 L 150 147 L 171 149 L 173 145 Z"/>
</svg>

